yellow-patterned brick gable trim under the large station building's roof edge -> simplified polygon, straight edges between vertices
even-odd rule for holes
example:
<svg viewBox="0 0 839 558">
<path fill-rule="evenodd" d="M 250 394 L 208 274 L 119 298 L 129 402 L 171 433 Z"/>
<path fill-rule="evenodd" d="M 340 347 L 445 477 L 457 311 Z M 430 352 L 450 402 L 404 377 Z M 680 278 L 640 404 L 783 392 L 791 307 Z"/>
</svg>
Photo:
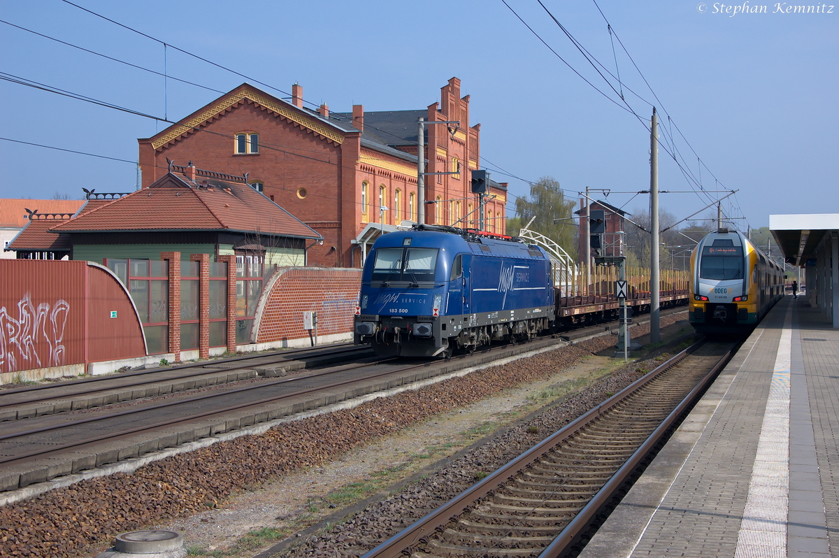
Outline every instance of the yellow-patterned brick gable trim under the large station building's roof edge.
<svg viewBox="0 0 839 558">
<path fill-rule="evenodd" d="M 253 103 L 253 105 L 262 108 L 263 111 L 274 114 L 275 117 L 282 117 L 294 123 L 294 125 L 310 133 L 315 133 L 321 138 L 325 138 L 333 143 L 343 143 L 344 133 L 354 130 L 354 128 L 347 127 L 346 124 L 336 125 L 336 123 L 332 123 L 326 118 L 321 117 L 317 112 L 306 111 L 300 107 L 295 107 L 289 102 L 283 101 L 247 83 L 243 83 L 233 91 L 225 93 L 215 101 L 193 112 L 190 116 L 183 118 L 178 123 L 169 126 L 169 128 L 164 129 L 147 140 L 140 141 L 149 141 L 154 149 L 162 149 L 167 143 L 180 141 L 180 139 L 185 138 L 190 133 L 195 133 L 196 129 L 203 128 L 206 124 L 211 123 L 216 117 L 221 116 L 221 114 L 231 111 L 246 102 Z"/>
</svg>

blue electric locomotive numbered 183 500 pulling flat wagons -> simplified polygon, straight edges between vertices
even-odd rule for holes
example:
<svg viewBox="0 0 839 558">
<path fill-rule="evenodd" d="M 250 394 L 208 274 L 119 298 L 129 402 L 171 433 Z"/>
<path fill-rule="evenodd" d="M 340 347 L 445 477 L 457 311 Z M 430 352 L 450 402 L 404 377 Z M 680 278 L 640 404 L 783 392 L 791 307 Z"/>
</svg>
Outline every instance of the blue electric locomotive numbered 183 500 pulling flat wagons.
<svg viewBox="0 0 839 558">
<path fill-rule="evenodd" d="M 364 263 L 354 341 L 436 357 L 529 338 L 554 323 L 552 273 L 542 248 L 515 239 L 428 225 L 391 232 Z"/>
</svg>

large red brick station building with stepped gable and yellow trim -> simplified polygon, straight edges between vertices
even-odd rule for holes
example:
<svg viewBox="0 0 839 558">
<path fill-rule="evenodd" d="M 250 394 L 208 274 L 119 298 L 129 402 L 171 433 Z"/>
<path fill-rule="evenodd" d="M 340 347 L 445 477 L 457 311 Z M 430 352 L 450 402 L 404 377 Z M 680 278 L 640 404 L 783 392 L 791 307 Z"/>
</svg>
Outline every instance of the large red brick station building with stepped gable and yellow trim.
<svg viewBox="0 0 839 558">
<path fill-rule="evenodd" d="M 247 175 L 254 189 L 323 237 L 307 250 L 309 265 L 358 268 L 382 228 L 416 221 L 420 117 L 460 121 L 456 128 L 425 127 L 425 171 L 460 171 L 426 177 L 426 222 L 477 228 L 469 171 L 479 165 L 481 125 L 469 125 L 469 96 L 460 88 L 451 78 L 440 102 L 426 109 L 365 112 L 353 105 L 350 113 L 305 108 L 298 84 L 290 102 L 243 84 L 138 140 L 143 188 L 164 176 L 170 161 Z M 488 194 L 486 228 L 504 232 L 507 185 L 491 183 Z"/>
</svg>

